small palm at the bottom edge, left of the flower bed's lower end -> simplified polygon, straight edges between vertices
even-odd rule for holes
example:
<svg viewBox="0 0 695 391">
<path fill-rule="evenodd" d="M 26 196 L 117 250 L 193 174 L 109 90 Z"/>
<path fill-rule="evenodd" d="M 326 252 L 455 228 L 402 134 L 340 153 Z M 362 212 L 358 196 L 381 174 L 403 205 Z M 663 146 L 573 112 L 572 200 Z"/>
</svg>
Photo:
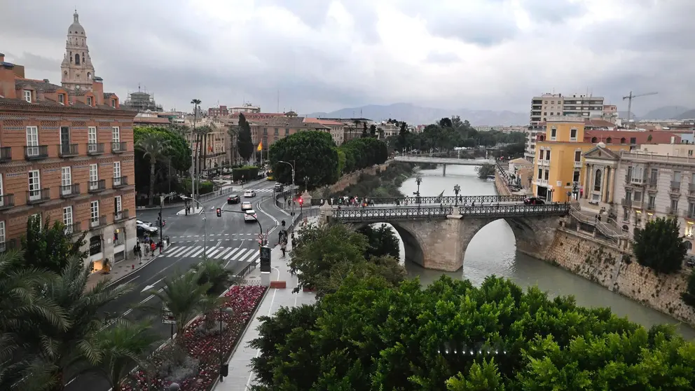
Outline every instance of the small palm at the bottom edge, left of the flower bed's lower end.
<svg viewBox="0 0 695 391">
<path fill-rule="evenodd" d="M 152 324 L 152 320 L 137 323 L 119 320 L 95 336 L 94 344 L 101 353 L 96 370 L 109 380 L 111 390 L 121 391 L 121 380 L 134 366 L 148 366 L 144 357 L 160 342 L 151 331 Z"/>
</svg>

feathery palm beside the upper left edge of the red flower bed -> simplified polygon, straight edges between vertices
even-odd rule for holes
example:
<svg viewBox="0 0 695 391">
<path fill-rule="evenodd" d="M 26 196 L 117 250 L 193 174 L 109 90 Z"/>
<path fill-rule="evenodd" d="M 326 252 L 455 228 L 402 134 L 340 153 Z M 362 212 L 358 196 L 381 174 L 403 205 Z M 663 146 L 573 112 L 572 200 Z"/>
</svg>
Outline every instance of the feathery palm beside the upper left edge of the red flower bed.
<svg viewBox="0 0 695 391">
<path fill-rule="evenodd" d="M 156 296 L 163 306 L 169 308 L 176 320 L 177 341 L 184 344 L 184 328 L 198 314 L 208 312 L 218 298 L 207 296 L 207 290 L 212 284 L 198 284 L 198 275 L 184 273 L 179 277 L 167 277 L 164 279 L 164 287 L 161 291 L 151 290 L 149 293 Z M 157 313 L 161 308 L 153 308 Z"/>
</svg>

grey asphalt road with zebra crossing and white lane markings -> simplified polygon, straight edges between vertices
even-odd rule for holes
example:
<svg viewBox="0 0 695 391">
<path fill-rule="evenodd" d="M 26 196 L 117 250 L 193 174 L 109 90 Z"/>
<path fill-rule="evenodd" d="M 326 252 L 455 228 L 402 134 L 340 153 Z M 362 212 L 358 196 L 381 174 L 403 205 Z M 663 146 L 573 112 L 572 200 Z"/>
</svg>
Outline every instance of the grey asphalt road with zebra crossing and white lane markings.
<svg viewBox="0 0 695 391">
<path fill-rule="evenodd" d="M 255 198 L 242 198 L 242 201 L 251 200 L 256 210 L 263 231 L 270 231 L 268 242 L 275 244 L 273 229 L 279 225 L 278 221 L 287 217 L 273 207 L 270 200 L 273 196 L 274 181 L 263 181 L 256 185 L 247 186 L 246 189 L 255 189 Z M 242 190 L 235 187 L 231 193 L 242 196 Z M 259 203 L 261 208 L 258 207 Z M 244 221 L 240 213 L 224 212 L 222 217 L 216 217 L 216 208 L 223 210 L 241 211 L 240 204 L 228 205 L 226 196 L 202 203 L 205 214 L 177 216 L 179 208 L 165 209 L 162 212 L 163 219 L 167 221 L 163 235 L 172 238 L 172 245 L 162 255 L 153 259 L 150 263 L 132 274 L 117 280 L 114 285 L 133 285 L 129 294 L 121 296 L 116 301 L 104 308 L 104 312 L 113 315 L 125 316 L 128 319 L 142 319 L 146 316 L 159 316 L 160 301 L 149 294 L 151 289 L 161 289 L 164 279 L 185 273 L 191 266 L 200 263 L 205 245 L 205 217 L 207 215 L 207 251 L 208 258 L 221 259 L 226 268 L 234 274 L 248 266 L 250 263 L 259 262 L 259 225 L 256 222 Z M 142 221 L 156 221 L 159 210 L 138 211 L 137 219 Z M 275 216 L 275 217 L 274 217 Z M 289 221 L 288 221 L 289 223 Z M 133 310 L 137 306 L 152 308 L 150 311 L 140 309 Z M 156 322 L 153 325 L 162 338 L 170 337 L 170 326 Z M 103 378 L 85 374 L 71 381 L 65 390 L 67 391 L 108 391 L 109 384 Z"/>
</svg>

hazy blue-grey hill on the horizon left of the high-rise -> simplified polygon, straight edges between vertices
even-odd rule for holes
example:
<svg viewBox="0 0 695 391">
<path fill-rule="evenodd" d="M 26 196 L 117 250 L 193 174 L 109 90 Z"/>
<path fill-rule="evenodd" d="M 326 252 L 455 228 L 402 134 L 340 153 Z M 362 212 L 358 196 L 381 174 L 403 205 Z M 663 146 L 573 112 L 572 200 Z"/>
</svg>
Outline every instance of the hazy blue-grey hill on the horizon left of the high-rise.
<svg viewBox="0 0 695 391">
<path fill-rule="evenodd" d="M 362 114 L 360 114 L 362 112 Z M 406 121 L 411 125 L 425 125 L 439 121 L 443 117 L 460 116 L 461 121 L 468 120 L 471 125 L 528 125 L 528 114 L 514 111 L 469 110 L 469 109 L 434 109 L 420 107 L 410 103 L 395 103 L 388 106 L 369 104 L 362 107 L 351 107 L 331 111 L 330 113 L 308 114 L 315 118 L 369 118 L 374 121 L 385 121 L 394 118 Z"/>
</svg>

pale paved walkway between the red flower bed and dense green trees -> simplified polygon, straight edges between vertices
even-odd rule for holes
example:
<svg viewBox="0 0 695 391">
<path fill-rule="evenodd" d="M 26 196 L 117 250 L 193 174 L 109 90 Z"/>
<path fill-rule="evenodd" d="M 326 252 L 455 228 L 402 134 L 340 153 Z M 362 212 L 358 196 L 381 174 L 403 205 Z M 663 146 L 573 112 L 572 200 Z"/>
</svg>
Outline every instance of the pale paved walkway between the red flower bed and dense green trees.
<svg viewBox="0 0 695 391">
<path fill-rule="evenodd" d="M 288 253 L 291 246 L 287 245 Z M 292 289 L 297 287 L 297 277 L 289 273 L 289 254 L 282 258 L 280 246 L 275 246 L 271 254 L 271 265 L 273 271 L 270 273 L 270 281 L 287 281 L 286 289 L 269 289 L 265 298 L 261 302 L 254 318 L 247 327 L 236 350 L 232 353 L 229 363 L 229 376 L 224 378 L 223 383 L 217 383 L 214 387 L 216 391 L 246 391 L 254 383 L 254 374 L 249 365 L 252 357 L 258 357 L 259 351 L 249 348 L 249 342 L 258 338 L 258 327 L 261 316 L 273 316 L 280 307 L 296 307 L 303 304 L 312 304 L 316 301 L 315 295 L 311 292 L 292 293 Z M 256 268 L 247 276 L 247 280 L 261 280 L 260 268 Z"/>
</svg>

